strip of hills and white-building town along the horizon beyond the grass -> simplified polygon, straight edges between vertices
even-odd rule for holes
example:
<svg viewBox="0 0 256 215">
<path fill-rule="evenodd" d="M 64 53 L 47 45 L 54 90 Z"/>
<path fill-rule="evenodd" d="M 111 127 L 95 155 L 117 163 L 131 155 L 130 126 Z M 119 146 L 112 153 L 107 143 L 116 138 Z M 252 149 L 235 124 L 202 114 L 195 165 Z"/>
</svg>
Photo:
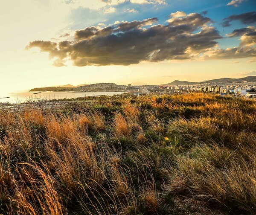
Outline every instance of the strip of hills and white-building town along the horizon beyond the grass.
<svg viewBox="0 0 256 215">
<path fill-rule="evenodd" d="M 173 81 L 169 84 L 160 85 L 118 85 L 114 83 L 81 84 L 70 87 L 41 87 L 31 89 L 32 92 L 42 91 L 72 91 L 72 92 L 125 92 L 134 96 L 148 94 L 182 94 L 182 93 L 217 93 L 222 96 L 242 96 L 245 98 L 256 98 L 256 76 L 244 78 L 219 78 L 203 82 Z"/>
</svg>

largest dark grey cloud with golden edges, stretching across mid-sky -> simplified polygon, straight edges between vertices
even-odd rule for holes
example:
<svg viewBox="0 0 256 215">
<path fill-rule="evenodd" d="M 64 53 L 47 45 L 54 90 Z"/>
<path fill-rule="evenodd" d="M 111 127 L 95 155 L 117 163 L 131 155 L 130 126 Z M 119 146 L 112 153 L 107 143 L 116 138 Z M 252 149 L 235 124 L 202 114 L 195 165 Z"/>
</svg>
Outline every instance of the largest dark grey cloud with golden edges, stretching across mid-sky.
<svg viewBox="0 0 256 215">
<path fill-rule="evenodd" d="M 183 17 L 172 15 L 166 25 L 155 24 L 157 18 L 150 18 L 116 23 L 105 28 L 92 26 L 77 30 L 73 41 L 61 41 L 58 44 L 33 41 L 27 48 L 38 47 L 42 52 L 49 52 L 50 58 L 57 58 L 55 66 L 64 66 L 65 61 L 71 60 L 80 67 L 193 59 L 205 52 L 209 52 L 205 54 L 209 58 L 209 55 L 221 52 L 222 49 L 214 49 L 216 40 L 222 37 L 214 27 L 208 25 L 212 20 L 198 13 L 179 14 L 183 14 Z M 240 56 L 253 55 L 250 47 L 244 50 L 241 48 L 236 50 L 241 52 Z M 220 53 L 220 56 L 228 58 L 225 53 Z"/>
</svg>

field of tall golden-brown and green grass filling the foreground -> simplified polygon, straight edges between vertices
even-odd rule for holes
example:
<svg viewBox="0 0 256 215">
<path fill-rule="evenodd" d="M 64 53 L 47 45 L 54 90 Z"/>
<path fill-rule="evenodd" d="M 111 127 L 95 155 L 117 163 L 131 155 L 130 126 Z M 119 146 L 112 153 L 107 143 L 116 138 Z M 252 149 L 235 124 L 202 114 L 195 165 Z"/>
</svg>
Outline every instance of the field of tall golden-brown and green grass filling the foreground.
<svg viewBox="0 0 256 215">
<path fill-rule="evenodd" d="M 256 102 L 99 97 L 0 110 L 0 213 L 256 213 Z"/>
</svg>

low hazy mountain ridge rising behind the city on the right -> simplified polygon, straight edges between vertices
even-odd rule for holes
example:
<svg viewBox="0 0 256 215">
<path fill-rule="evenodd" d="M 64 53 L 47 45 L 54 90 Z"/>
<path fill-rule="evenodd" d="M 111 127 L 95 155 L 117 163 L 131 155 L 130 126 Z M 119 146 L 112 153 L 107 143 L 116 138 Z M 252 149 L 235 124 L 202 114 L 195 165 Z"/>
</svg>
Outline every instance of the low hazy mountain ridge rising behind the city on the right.
<svg viewBox="0 0 256 215">
<path fill-rule="evenodd" d="M 256 82 L 256 76 L 247 76 L 244 78 L 218 78 L 218 79 L 212 79 L 208 81 L 203 81 L 201 84 L 207 84 L 207 83 L 233 83 L 233 82 Z M 175 86 L 175 85 L 193 85 L 193 84 L 200 84 L 200 82 L 189 82 L 189 81 L 172 81 L 169 84 L 161 84 L 166 86 Z"/>
</svg>

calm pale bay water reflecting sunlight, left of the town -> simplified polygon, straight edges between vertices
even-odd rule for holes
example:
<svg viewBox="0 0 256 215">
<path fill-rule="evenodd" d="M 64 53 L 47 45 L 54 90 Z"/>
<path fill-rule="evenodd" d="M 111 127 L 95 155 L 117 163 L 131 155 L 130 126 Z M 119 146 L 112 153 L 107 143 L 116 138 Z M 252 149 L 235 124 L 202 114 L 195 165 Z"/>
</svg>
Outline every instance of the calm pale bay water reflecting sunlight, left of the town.
<svg viewBox="0 0 256 215">
<path fill-rule="evenodd" d="M 38 94 L 34 94 L 38 93 Z M 28 91 L 23 91 L 23 92 L 17 92 L 17 93 L 7 93 L 3 95 L 0 93 L 0 98 L 1 97 L 10 97 L 9 99 L 0 99 L 0 102 L 9 102 L 11 104 L 13 103 L 22 103 L 22 102 L 32 102 L 32 101 L 38 101 L 38 99 L 75 99 L 78 97 L 83 97 L 83 96 L 99 96 L 99 95 L 107 95 L 107 96 L 113 96 L 119 95 L 124 93 L 122 92 L 85 92 L 85 93 L 73 93 L 73 92 L 52 92 L 52 91 L 47 91 L 47 92 L 28 92 Z"/>
</svg>

